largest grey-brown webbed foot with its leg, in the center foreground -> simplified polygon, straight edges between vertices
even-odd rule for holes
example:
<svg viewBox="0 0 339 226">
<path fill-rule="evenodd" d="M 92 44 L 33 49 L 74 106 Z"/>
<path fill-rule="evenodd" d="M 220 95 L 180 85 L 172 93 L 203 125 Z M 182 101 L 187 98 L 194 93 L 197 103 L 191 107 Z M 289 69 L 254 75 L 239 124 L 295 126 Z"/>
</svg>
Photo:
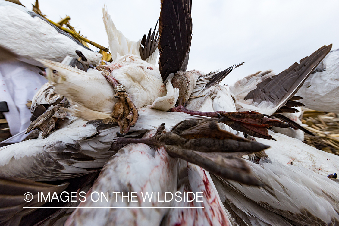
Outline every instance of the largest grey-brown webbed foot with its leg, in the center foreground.
<svg viewBox="0 0 339 226">
<path fill-rule="evenodd" d="M 143 139 L 118 138 L 113 148 L 118 151 L 130 143 L 164 147 L 169 156 L 199 165 L 224 179 L 261 185 L 241 156 L 269 146 L 222 130 L 219 122 L 217 118 L 185 120 L 166 133 L 163 133 L 163 123 L 155 136 Z"/>
</svg>

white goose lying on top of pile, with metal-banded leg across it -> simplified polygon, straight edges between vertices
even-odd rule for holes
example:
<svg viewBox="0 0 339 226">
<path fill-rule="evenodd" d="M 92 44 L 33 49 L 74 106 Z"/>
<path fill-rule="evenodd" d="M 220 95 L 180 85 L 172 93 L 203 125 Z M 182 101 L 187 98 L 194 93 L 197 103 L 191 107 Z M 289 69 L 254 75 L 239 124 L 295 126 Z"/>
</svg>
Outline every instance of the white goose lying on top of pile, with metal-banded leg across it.
<svg viewBox="0 0 339 226">
<path fill-rule="evenodd" d="M 137 108 L 151 105 L 151 108 L 168 110 L 178 98 L 177 89 L 170 83 L 165 88 L 154 65 L 133 54 L 118 58 L 112 65 L 99 65 L 97 70 L 88 69 L 87 72 L 53 61 L 40 61 L 49 68 L 47 77 L 55 84 L 56 92 L 73 105 L 68 111 L 84 120 L 118 121 L 120 132 L 124 134 L 135 125 Z M 57 72 L 53 73 L 52 70 Z M 48 123 L 50 118 L 44 122 Z M 34 128 L 32 125 L 30 129 Z"/>
</svg>

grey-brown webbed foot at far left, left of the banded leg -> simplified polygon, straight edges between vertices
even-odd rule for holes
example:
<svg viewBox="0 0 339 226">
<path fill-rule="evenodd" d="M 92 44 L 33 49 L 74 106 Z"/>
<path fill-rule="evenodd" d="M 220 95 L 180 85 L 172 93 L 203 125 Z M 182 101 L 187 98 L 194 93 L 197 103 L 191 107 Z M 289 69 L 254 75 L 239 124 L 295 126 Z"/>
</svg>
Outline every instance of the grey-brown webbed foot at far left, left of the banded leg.
<svg viewBox="0 0 339 226">
<path fill-rule="evenodd" d="M 34 129 L 42 131 L 43 138 L 48 137 L 49 133 L 55 129 L 58 119 L 65 119 L 66 111 L 64 109 L 64 103 L 61 102 L 53 107 L 49 107 L 45 113 L 34 120 L 26 130 L 26 133 L 31 132 Z"/>
</svg>

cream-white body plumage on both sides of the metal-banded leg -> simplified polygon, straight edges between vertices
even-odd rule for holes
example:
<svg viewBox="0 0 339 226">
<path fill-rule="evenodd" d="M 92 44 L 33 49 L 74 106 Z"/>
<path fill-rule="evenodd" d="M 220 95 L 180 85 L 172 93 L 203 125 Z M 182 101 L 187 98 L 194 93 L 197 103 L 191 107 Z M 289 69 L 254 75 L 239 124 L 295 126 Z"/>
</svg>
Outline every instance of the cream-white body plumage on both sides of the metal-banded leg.
<svg viewBox="0 0 339 226">
<path fill-rule="evenodd" d="M 112 85 L 107 82 L 101 71 L 88 69 L 86 73 L 57 62 L 41 62 L 46 67 L 57 70 L 57 75 L 49 70 L 47 77 L 55 83 L 57 93 L 65 96 L 74 105 L 69 111 L 75 116 L 85 120 L 112 118 L 111 112 L 117 99 L 114 98 Z M 168 83 L 167 93 L 159 69 L 154 65 L 135 55 L 127 54 L 118 58 L 109 68 L 112 70 L 112 76 L 125 85 L 137 108 L 154 104 L 152 108 L 169 110 L 174 106 L 179 90 Z"/>
</svg>

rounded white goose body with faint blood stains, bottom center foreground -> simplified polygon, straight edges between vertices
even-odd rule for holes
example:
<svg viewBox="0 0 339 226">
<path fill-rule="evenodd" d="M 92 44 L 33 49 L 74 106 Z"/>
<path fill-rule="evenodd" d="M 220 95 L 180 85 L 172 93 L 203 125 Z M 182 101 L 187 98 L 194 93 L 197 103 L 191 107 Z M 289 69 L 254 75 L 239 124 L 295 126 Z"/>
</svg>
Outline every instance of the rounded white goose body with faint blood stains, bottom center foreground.
<svg viewBox="0 0 339 226">
<path fill-rule="evenodd" d="M 144 137 L 155 134 L 146 133 Z M 120 149 L 102 169 L 97 181 L 87 192 L 86 201 L 79 207 L 171 207 L 163 202 L 165 192 L 177 188 L 178 159 L 168 156 L 164 148 L 153 149 L 146 144 L 129 144 Z M 103 192 L 108 201 L 93 202 L 91 193 Z M 120 191 L 113 193 L 112 191 Z M 123 196 L 127 196 L 122 199 Z M 128 193 L 129 192 L 129 193 Z M 131 192 L 134 192 L 131 194 Z M 141 193 L 142 192 L 142 193 Z M 146 192 L 148 196 L 146 197 Z M 156 192 L 156 197 L 154 196 Z M 158 195 L 159 194 L 159 195 Z M 98 196 L 93 194 L 93 199 Z M 131 198 L 131 195 L 135 196 Z M 149 201 L 148 197 L 151 197 Z M 155 200 L 154 200 L 155 198 Z M 133 199 L 135 202 L 131 202 Z M 116 201 L 117 200 L 117 201 Z M 160 201 L 158 201 L 160 200 Z M 65 225 L 160 225 L 169 209 L 76 209 Z"/>
</svg>

